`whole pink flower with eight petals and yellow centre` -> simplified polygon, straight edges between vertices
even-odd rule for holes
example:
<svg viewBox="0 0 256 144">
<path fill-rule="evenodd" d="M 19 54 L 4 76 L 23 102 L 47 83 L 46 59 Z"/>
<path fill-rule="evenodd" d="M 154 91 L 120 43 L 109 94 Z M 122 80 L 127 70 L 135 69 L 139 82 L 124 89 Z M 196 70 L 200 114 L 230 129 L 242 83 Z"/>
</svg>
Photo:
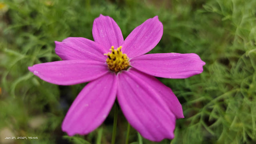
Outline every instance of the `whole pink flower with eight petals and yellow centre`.
<svg viewBox="0 0 256 144">
<path fill-rule="evenodd" d="M 154 76 L 188 78 L 200 74 L 205 62 L 193 53 L 146 54 L 162 34 L 163 25 L 155 16 L 124 40 L 116 22 L 100 15 L 92 28 L 95 42 L 72 37 L 55 42 L 56 54 L 63 61 L 28 67 L 53 84 L 91 81 L 68 110 L 62 130 L 69 136 L 92 132 L 104 122 L 117 97 L 124 116 L 144 138 L 174 138 L 176 119 L 184 118 L 182 106 L 172 90 Z"/>
</svg>

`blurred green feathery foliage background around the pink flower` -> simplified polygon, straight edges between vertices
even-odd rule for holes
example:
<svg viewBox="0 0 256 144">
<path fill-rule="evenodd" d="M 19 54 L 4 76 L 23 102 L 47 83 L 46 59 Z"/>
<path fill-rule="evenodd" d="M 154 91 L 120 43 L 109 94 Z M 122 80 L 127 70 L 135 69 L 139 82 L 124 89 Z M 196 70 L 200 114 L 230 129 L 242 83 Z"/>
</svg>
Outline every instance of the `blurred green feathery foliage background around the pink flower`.
<svg viewBox="0 0 256 144">
<path fill-rule="evenodd" d="M 0 0 L 0 144 L 111 143 L 113 110 L 86 136 L 69 137 L 60 128 L 85 84 L 50 84 L 27 68 L 61 60 L 55 40 L 93 40 L 99 14 L 114 18 L 124 38 L 158 15 L 164 34 L 150 53 L 196 53 L 206 62 L 202 74 L 159 78 L 185 116 L 176 122 L 175 138 L 159 144 L 256 144 L 256 0 Z M 125 143 L 126 127 L 120 111 L 116 144 Z M 158 144 L 133 128 L 129 143 Z"/>
</svg>

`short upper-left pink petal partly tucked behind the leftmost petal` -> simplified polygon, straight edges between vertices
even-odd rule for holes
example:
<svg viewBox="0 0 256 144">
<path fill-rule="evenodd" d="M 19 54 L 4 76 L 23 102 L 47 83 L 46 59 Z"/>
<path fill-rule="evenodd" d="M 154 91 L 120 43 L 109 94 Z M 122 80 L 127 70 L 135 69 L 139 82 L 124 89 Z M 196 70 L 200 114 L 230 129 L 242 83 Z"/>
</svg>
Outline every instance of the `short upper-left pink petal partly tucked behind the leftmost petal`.
<svg viewBox="0 0 256 144">
<path fill-rule="evenodd" d="M 62 60 L 106 61 L 104 53 L 108 50 L 100 44 L 86 38 L 69 37 L 62 42 L 55 41 L 55 52 Z"/>
</svg>

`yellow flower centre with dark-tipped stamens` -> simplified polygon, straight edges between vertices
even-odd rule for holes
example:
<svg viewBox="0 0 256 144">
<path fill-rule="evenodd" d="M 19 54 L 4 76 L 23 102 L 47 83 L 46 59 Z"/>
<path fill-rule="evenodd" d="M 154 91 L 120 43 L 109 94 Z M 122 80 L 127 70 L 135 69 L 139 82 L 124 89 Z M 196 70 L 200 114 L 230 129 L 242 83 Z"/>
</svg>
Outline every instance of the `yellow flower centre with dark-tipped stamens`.
<svg viewBox="0 0 256 144">
<path fill-rule="evenodd" d="M 121 70 L 126 70 L 130 66 L 129 58 L 126 54 L 121 52 L 122 46 L 117 49 L 114 49 L 114 46 L 111 46 L 111 52 L 104 54 L 108 56 L 106 62 L 108 68 L 114 72 L 119 72 Z"/>
</svg>

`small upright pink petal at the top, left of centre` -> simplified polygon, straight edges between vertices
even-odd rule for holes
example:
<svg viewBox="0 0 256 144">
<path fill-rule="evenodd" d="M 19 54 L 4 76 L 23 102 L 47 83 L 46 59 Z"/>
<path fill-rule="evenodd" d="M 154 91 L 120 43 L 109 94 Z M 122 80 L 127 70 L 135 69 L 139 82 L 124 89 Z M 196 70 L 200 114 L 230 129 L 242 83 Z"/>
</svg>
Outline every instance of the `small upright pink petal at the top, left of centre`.
<svg viewBox="0 0 256 144">
<path fill-rule="evenodd" d="M 92 36 L 95 42 L 98 42 L 107 50 L 111 46 L 117 48 L 124 42 L 122 32 L 113 18 L 102 14 L 93 22 Z"/>
</svg>

